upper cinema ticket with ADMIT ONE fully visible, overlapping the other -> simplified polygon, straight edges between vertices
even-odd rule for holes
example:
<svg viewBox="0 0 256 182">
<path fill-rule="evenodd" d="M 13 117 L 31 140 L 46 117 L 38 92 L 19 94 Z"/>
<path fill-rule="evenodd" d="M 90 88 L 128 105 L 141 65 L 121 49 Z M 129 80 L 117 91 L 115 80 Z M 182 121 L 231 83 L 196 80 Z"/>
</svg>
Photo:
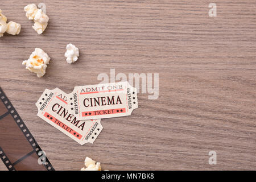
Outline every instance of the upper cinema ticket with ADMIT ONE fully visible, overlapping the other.
<svg viewBox="0 0 256 182">
<path fill-rule="evenodd" d="M 76 86 L 68 94 L 68 106 L 77 119 L 131 115 L 138 108 L 137 89 L 129 82 Z"/>
</svg>

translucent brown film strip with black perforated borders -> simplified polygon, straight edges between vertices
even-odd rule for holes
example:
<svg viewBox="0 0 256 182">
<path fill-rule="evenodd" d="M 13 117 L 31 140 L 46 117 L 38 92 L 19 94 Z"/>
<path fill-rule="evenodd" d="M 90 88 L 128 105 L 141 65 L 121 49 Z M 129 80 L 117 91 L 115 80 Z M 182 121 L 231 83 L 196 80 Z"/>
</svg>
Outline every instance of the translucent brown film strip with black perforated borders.
<svg viewBox="0 0 256 182">
<path fill-rule="evenodd" d="M 0 158 L 9 171 L 54 171 L 0 87 Z M 43 164 L 39 164 L 39 161 Z"/>
</svg>

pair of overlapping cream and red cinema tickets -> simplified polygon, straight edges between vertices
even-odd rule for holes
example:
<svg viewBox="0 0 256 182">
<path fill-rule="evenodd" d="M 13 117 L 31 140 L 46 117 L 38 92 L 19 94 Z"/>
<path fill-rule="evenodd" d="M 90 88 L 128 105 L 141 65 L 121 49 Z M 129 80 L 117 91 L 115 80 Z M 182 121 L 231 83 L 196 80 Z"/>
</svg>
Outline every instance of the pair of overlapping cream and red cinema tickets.
<svg viewBox="0 0 256 182">
<path fill-rule="evenodd" d="M 138 98 L 129 82 L 116 82 L 76 86 L 70 94 L 46 89 L 36 106 L 40 118 L 82 145 L 96 140 L 102 118 L 131 115 Z"/>
</svg>

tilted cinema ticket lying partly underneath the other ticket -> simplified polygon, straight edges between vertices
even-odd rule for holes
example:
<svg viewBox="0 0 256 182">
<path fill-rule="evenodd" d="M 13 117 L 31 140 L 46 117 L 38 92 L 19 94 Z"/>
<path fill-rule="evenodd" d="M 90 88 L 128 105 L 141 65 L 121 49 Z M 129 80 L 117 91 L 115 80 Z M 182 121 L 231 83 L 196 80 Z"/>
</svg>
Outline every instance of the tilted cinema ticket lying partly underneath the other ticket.
<svg viewBox="0 0 256 182">
<path fill-rule="evenodd" d="M 36 106 L 40 118 L 81 145 L 93 143 L 103 129 L 101 119 L 76 118 L 69 110 L 67 94 L 59 88 L 44 90 Z"/>
</svg>

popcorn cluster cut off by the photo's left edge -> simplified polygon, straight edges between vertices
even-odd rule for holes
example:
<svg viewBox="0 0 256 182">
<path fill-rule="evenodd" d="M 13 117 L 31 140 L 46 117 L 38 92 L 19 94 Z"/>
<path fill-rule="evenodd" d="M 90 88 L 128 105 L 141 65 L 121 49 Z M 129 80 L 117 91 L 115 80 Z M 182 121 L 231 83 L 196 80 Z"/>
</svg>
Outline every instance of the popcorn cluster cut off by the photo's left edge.
<svg viewBox="0 0 256 182">
<path fill-rule="evenodd" d="M 2 14 L 0 9 L 0 37 L 3 36 L 5 32 L 11 35 L 18 35 L 20 32 L 21 26 L 19 23 L 9 22 L 7 23 L 7 18 Z"/>
</svg>

